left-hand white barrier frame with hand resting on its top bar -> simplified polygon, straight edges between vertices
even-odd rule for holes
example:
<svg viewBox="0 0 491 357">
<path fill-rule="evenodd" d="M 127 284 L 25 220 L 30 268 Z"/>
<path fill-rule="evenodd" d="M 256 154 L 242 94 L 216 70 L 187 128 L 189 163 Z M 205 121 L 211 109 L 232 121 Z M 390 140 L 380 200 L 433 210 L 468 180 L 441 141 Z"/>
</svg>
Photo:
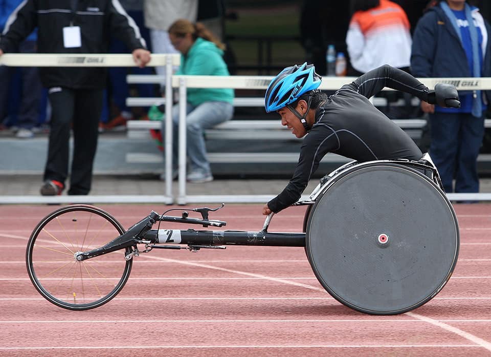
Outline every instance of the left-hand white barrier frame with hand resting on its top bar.
<svg viewBox="0 0 491 357">
<path fill-rule="evenodd" d="M 159 202 L 171 204 L 172 194 L 172 67 L 181 64 L 181 55 L 151 54 L 147 67 L 166 68 L 166 179 L 165 195 L 131 196 L 131 195 L 87 195 L 87 196 L 0 196 L 0 204 L 7 203 L 121 203 L 121 202 Z M 136 67 L 131 54 L 77 53 L 77 54 L 37 54 L 5 53 L 0 56 L 0 65 L 12 67 Z M 161 78 L 162 79 L 162 78 Z M 161 81 L 159 81 L 161 83 Z M 170 169 L 169 169 L 170 168 Z"/>
</svg>

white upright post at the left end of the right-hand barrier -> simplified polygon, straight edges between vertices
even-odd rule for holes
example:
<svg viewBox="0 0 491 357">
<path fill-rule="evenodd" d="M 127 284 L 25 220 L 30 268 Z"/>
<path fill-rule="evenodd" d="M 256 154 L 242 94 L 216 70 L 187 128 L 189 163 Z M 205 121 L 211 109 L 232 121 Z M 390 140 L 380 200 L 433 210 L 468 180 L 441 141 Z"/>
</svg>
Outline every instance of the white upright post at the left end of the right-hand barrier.
<svg viewBox="0 0 491 357">
<path fill-rule="evenodd" d="M 178 204 L 186 204 L 186 79 L 179 79 L 179 195 Z"/>
</svg>

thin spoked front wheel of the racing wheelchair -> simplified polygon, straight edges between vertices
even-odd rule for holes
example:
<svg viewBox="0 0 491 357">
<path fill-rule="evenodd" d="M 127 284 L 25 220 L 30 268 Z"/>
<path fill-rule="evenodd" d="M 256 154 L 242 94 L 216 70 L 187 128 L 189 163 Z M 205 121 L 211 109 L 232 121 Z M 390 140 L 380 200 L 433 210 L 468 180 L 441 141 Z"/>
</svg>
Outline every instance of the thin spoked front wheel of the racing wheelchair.
<svg viewBox="0 0 491 357">
<path fill-rule="evenodd" d="M 29 278 L 51 303 L 88 310 L 113 299 L 131 271 L 130 248 L 84 261 L 77 252 L 101 247 L 125 232 L 107 212 L 90 205 L 70 205 L 44 217 L 27 244 Z"/>
</svg>

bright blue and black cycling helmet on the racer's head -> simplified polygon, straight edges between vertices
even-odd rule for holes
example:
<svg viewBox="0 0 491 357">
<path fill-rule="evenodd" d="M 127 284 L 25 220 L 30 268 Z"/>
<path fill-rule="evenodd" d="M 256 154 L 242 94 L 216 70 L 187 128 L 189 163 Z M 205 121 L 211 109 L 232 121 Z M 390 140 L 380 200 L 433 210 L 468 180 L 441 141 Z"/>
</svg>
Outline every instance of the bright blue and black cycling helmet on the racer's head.
<svg viewBox="0 0 491 357">
<path fill-rule="evenodd" d="M 286 67 L 267 87 L 264 108 L 267 113 L 277 111 L 298 100 L 306 92 L 317 89 L 322 77 L 315 72 L 314 65 Z"/>
</svg>

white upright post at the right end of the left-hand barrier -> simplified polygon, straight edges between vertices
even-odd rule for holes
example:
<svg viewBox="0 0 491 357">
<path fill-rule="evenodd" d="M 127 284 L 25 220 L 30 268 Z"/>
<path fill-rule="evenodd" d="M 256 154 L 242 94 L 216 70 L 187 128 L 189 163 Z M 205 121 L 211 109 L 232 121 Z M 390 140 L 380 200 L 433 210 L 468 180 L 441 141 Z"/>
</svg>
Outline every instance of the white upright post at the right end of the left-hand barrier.
<svg viewBox="0 0 491 357">
<path fill-rule="evenodd" d="M 172 56 L 165 62 L 165 194 L 172 197 Z"/>
</svg>

